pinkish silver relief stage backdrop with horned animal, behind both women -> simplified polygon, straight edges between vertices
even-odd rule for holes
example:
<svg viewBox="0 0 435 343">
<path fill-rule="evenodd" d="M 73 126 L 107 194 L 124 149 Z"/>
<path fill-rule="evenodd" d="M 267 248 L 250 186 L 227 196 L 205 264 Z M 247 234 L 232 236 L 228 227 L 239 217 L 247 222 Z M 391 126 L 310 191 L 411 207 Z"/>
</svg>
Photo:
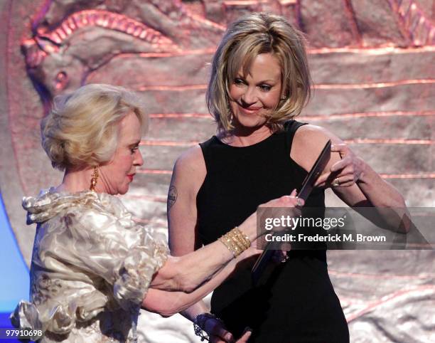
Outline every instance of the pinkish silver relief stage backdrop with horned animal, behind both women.
<svg viewBox="0 0 435 343">
<path fill-rule="evenodd" d="M 123 199 L 138 221 L 164 231 L 173 162 L 215 130 L 204 101 L 207 63 L 227 23 L 249 11 L 286 16 L 308 37 L 316 86 L 300 120 L 345 139 L 410 206 L 435 206 L 433 0 L 4 0 L 0 6 L 0 186 L 27 263 L 34 228 L 25 226 L 21 197 L 61 176 L 38 130 L 53 95 L 86 83 L 124 85 L 143 95 L 151 116 L 141 143 L 145 164 Z M 328 196 L 328 205 L 338 202 Z M 434 251 L 328 252 L 351 341 L 434 342 L 434 261 Z M 141 342 L 196 342 L 179 315 L 144 312 L 140 331 Z"/>
</svg>

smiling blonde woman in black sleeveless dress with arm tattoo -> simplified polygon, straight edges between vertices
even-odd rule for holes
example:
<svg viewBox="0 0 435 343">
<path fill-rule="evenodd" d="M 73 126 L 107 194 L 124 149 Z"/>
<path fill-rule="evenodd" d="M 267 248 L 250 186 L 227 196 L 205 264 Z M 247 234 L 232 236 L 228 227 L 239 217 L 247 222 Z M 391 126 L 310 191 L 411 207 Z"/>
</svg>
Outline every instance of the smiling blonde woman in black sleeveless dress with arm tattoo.
<svg viewBox="0 0 435 343">
<path fill-rule="evenodd" d="M 215 241 L 259 204 L 299 189 L 328 139 L 334 144 L 331 161 L 306 206 L 324 207 L 323 189 L 332 187 L 357 209 L 406 209 L 399 192 L 338 137 L 294 120 L 310 88 L 304 36 L 285 19 L 249 14 L 228 27 L 207 91 L 218 134 L 183 154 L 174 167 L 171 191 L 178 198 L 168 211 L 173 255 Z M 398 228 L 402 216 L 393 217 L 384 219 Z M 287 257 L 266 285 L 252 285 L 252 265 L 237 270 L 213 292 L 213 314 L 236 336 L 252 327 L 249 342 L 348 342 L 326 251 L 294 250 Z M 184 315 L 195 320 L 204 312 L 198 303 Z M 210 342 L 225 340 L 209 334 Z"/>
</svg>

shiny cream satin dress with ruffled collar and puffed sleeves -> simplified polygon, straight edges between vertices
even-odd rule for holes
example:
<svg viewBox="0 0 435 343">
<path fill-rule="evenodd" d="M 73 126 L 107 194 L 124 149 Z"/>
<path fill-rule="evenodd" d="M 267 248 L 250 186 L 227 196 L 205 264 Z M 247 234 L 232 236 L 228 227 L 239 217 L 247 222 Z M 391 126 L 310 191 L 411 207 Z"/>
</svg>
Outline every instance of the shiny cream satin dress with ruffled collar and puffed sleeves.
<svg viewBox="0 0 435 343">
<path fill-rule="evenodd" d="M 151 278 L 168 256 L 163 235 L 136 224 L 109 194 L 54 189 L 23 199 L 37 223 L 30 302 L 11 322 L 41 329 L 38 342 L 136 342 Z"/>
</svg>

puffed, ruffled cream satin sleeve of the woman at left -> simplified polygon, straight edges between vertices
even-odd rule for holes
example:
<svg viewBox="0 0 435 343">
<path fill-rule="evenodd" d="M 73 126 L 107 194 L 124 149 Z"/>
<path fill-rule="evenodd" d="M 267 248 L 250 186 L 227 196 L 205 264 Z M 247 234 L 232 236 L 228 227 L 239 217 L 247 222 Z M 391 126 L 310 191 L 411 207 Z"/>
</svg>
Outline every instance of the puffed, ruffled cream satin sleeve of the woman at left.
<svg viewBox="0 0 435 343">
<path fill-rule="evenodd" d="M 166 262 L 166 238 L 136 225 L 118 199 L 112 211 L 88 209 L 68 215 L 73 245 L 59 257 L 99 275 L 112 286 L 114 299 L 124 310 L 141 305 L 154 273 Z"/>
</svg>

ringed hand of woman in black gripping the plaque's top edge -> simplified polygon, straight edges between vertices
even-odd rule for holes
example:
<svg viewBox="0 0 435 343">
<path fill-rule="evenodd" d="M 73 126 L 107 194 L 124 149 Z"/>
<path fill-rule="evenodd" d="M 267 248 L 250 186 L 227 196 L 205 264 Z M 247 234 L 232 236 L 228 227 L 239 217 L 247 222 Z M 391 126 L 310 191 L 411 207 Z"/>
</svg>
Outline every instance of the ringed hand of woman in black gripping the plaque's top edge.
<svg viewBox="0 0 435 343">
<path fill-rule="evenodd" d="M 356 156 L 345 143 L 333 144 L 331 152 L 338 152 L 341 160 L 335 162 L 329 171 L 324 172 L 316 181 L 316 187 L 349 187 L 362 176 L 365 162 Z"/>
</svg>

